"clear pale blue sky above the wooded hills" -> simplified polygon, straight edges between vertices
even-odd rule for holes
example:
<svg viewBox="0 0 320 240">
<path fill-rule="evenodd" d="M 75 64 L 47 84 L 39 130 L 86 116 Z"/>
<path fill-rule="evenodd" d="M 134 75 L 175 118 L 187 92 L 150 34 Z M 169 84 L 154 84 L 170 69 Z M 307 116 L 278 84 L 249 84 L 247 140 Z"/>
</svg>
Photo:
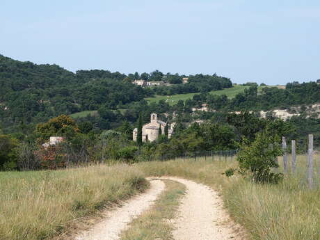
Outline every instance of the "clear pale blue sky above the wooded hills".
<svg viewBox="0 0 320 240">
<path fill-rule="evenodd" d="M 319 0 L 1 0 L 0 54 L 103 69 L 320 79 Z"/>
</svg>

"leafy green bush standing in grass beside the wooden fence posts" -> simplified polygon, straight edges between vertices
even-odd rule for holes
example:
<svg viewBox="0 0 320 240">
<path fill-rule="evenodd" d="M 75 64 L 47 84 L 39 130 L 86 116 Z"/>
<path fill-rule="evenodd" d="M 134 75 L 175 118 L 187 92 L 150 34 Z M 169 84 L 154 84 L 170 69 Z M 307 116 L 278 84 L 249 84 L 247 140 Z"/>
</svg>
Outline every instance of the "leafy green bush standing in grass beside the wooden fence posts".
<svg viewBox="0 0 320 240">
<path fill-rule="evenodd" d="M 239 168 L 244 175 L 250 175 L 257 183 L 277 183 L 281 173 L 273 173 L 271 168 L 278 168 L 275 159 L 282 154 L 278 136 L 267 132 L 258 133 L 253 143 L 244 141 L 238 153 Z"/>
</svg>

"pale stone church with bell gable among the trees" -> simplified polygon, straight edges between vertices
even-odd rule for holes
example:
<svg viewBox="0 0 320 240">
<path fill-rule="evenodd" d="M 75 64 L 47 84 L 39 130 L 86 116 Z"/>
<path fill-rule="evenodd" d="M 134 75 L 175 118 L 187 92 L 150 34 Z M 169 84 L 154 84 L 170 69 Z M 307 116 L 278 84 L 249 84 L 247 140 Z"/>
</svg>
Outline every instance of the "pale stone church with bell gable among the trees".
<svg viewBox="0 0 320 240">
<path fill-rule="evenodd" d="M 161 126 L 162 134 L 164 134 L 164 128 L 166 127 L 166 122 L 157 119 L 157 114 L 151 114 L 151 120 L 149 123 L 143 125 L 142 127 L 142 141 L 145 142 L 147 139 L 150 142 L 156 141 L 159 136 L 159 127 Z M 173 126 L 168 127 L 168 138 L 173 134 Z M 136 141 L 138 135 L 138 129 L 135 128 L 133 132 L 134 141 Z"/>
</svg>

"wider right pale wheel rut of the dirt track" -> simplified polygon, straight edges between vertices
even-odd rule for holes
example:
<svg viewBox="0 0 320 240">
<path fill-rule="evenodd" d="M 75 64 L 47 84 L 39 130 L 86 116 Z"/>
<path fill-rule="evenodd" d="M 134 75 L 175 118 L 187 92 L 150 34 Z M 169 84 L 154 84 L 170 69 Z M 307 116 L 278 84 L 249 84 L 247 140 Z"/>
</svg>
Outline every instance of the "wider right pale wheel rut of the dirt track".
<svg viewBox="0 0 320 240">
<path fill-rule="evenodd" d="M 181 182 L 186 186 L 186 195 L 179 206 L 175 218 L 175 240 L 240 240 L 236 226 L 226 211 L 216 191 L 208 186 L 180 179 L 177 177 L 161 177 Z"/>
</svg>

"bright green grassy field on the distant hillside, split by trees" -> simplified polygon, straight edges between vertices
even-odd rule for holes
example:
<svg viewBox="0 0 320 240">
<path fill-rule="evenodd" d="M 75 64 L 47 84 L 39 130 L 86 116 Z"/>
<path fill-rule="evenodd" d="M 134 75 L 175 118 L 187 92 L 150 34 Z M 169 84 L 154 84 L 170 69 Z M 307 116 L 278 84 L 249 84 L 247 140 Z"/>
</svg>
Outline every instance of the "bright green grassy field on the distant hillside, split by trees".
<svg viewBox="0 0 320 240">
<path fill-rule="evenodd" d="M 249 88 L 249 87 L 236 85 L 236 86 L 233 86 L 232 88 L 225 88 L 223 90 L 211 91 L 210 93 L 214 95 L 227 95 L 227 97 L 232 98 L 238 93 L 243 93 L 243 91 L 246 88 Z M 159 102 L 160 100 L 166 100 L 170 105 L 174 105 L 174 104 L 177 104 L 179 100 L 185 101 L 186 99 L 191 99 L 193 95 L 196 95 L 196 94 L 199 94 L 199 93 L 177 94 L 177 95 L 171 95 L 169 97 L 156 95 L 156 97 L 147 97 L 146 100 L 149 103 Z"/>
</svg>

